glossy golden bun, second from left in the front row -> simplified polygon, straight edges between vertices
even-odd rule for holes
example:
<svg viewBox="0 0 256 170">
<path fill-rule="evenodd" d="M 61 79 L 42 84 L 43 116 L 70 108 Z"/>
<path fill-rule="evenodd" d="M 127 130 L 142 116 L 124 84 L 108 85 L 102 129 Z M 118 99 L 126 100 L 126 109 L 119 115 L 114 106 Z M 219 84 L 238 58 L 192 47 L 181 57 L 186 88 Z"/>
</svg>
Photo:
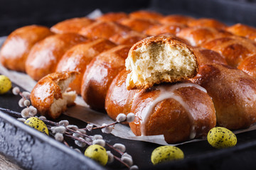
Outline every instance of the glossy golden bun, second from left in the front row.
<svg viewBox="0 0 256 170">
<path fill-rule="evenodd" d="M 56 34 L 38 42 L 29 52 L 26 73 L 35 80 L 55 72 L 64 53 L 73 45 L 87 40 L 75 33 Z"/>
</svg>

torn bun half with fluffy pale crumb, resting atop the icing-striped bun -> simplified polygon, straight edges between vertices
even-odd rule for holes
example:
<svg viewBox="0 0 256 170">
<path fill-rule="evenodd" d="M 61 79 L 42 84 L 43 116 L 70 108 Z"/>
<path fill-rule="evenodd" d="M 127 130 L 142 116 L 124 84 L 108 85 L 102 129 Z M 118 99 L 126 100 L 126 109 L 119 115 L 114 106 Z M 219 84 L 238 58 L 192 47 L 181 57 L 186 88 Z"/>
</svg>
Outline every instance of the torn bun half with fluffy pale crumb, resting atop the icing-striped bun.
<svg viewBox="0 0 256 170">
<path fill-rule="evenodd" d="M 145 38 L 129 50 L 125 66 L 127 89 L 146 89 L 162 82 L 195 77 L 198 72 L 196 50 L 178 38 Z"/>
</svg>

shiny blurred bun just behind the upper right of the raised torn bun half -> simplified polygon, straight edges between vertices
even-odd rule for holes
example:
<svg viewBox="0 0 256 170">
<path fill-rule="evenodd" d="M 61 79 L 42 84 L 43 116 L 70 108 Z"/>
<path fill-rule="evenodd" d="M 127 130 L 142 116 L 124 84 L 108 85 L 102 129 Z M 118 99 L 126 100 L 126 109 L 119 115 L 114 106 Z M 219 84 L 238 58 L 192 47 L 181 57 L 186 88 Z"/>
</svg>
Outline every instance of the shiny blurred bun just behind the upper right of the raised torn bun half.
<svg viewBox="0 0 256 170">
<path fill-rule="evenodd" d="M 178 37 L 188 40 L 193 46 L 200 46 L 214 38 L 224 38 L 232 36 L 225 30 L 217 30 L 210 27 L 189 27 L 184 28 L 176 34 Z"/>
</svg>

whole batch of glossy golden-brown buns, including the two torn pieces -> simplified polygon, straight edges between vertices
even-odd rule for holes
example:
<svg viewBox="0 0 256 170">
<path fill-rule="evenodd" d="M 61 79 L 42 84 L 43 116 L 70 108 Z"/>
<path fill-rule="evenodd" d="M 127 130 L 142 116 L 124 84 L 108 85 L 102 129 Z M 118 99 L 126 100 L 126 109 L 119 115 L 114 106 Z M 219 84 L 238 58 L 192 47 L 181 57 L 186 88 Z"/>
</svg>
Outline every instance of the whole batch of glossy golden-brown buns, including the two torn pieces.
<svg viewBox="0 0 256 170">
<path fill-rule="evenodd" d="M 134 113 L 135 135 L 175 143 L 256 122 L 255 41 L 240 23 L 117 12 L 18 28 L 0 61 L 38 81 L 31 102 L 42 115 L 58 118 L 76 92 L 112 119 Z"/>
</svg>

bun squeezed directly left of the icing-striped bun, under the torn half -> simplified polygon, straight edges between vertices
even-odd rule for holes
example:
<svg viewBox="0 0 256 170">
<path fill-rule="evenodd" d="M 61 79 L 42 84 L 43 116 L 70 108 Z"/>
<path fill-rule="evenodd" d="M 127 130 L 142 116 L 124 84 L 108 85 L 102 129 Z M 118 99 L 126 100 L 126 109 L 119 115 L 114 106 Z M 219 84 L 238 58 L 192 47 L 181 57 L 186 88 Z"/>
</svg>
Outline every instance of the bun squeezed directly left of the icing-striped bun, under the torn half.
<svg viewBox="0 0 256 170">
<path fill-rule="evenodd" d="M 107 91 L 107 96 L 105 100 L 105 110 L 107 115 L 113 120 L 116 120 L 119 113 L 124 113 L 127 115 L 131 112 L 132 101 L 134 95 L 141 90 L 127 90 L 126 88 L 126 78 L 127 72 L 125 69 L 119 72 L 117 76 L 113 79 L 109 90 Z"/>
</svg>

